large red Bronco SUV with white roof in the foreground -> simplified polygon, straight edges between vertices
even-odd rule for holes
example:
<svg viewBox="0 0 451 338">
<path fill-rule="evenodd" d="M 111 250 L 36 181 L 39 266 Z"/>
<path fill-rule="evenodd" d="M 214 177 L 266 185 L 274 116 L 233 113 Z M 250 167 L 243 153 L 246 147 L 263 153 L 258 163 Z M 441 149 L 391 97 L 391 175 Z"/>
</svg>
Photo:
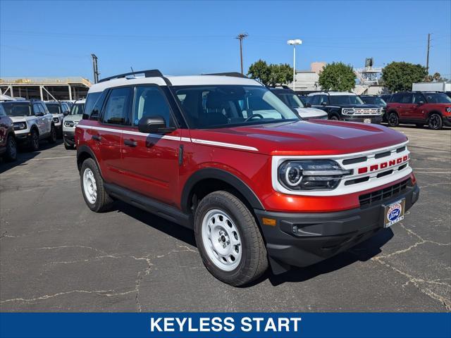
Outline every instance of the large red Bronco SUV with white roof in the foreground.
<svg viewBox="0 0 451 338">
<path fill-rule="evenodd" d="M 95 212 L 121 199 L 193 229 L 223 282 L 322 261 L 419 197 L 400 132 L 300 120 L 242 75 L 140 73 L 89 89 L 75 128 L 82 196 Z"/>
</svg>

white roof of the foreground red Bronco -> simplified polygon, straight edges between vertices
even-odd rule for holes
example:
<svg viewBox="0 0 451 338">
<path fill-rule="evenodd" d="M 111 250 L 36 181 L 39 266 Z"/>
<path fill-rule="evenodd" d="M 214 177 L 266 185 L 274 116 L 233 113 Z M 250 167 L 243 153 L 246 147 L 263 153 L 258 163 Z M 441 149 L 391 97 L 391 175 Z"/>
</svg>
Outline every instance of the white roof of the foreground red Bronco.
<svg viewBox="0 0 451 338">
<path fill-rule="evenodd" d="M 222 75 L 190 75 L 190 76 L 166 76 L 173 86 L 188 86 L 188 85 L 213 85 L 213 84 L 235 84 L 242 86 L 263 86 L 256 80 L 247 79 L 245 77 L 232 77 Z M 161 77 L 121 77 L 120 79 L 113 79 L 105 82 L 93 84 L 89 88 L 89 92 L 103 92 L 106 88 L 120 87 L 127 84 L 158 84 L 159 86 L 166 86 Z"/>
</svg>

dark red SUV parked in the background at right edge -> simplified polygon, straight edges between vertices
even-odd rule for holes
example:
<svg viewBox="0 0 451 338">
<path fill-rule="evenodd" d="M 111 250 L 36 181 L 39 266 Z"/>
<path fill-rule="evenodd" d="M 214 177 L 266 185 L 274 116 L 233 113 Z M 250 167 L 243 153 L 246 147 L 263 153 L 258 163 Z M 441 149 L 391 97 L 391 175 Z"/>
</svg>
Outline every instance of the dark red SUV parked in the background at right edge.
<svg viewBox="0 0 451 338">
<path fill-rule="evenodd" d="M 440 92 L 400 92 L 393 94 L 387 103 L 387 121 L 390 127 L 400 123 L 413 123 L 418 127 L 428 125 L 439 130 L 451 127 L 451 99 Z"/>
</svg>

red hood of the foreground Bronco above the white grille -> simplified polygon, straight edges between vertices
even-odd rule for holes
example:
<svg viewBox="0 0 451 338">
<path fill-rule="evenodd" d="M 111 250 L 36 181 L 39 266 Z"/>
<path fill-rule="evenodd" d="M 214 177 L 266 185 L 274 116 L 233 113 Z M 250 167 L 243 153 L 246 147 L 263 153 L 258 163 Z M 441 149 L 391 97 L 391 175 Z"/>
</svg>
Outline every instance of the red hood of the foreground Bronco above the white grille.
<svg viewBox="0 0 451 338">
<path fill-rule="evenodd" d="M 340 155 L 393 146 L 407 141 L 382 125 L 332 120 L 271 123 L 191 130 L 193 139 L 250 146 L 268 155 Z"/>
</svg>

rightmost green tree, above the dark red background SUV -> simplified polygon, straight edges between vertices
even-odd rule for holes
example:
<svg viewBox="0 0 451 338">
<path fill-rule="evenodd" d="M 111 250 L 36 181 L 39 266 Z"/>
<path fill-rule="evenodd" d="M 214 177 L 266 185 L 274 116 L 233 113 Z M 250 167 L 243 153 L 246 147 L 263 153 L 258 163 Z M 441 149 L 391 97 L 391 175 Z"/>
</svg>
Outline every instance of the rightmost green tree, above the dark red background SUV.
<svg viewBox="0 0 451 338">
<path fill-rule="evenodd" d="M 412 83 L 424 81 L 428 72 L 422 65 L 392 62 L 382 70 L 382 79 L 390 92 L 412 90 Z"/>
</svg>

